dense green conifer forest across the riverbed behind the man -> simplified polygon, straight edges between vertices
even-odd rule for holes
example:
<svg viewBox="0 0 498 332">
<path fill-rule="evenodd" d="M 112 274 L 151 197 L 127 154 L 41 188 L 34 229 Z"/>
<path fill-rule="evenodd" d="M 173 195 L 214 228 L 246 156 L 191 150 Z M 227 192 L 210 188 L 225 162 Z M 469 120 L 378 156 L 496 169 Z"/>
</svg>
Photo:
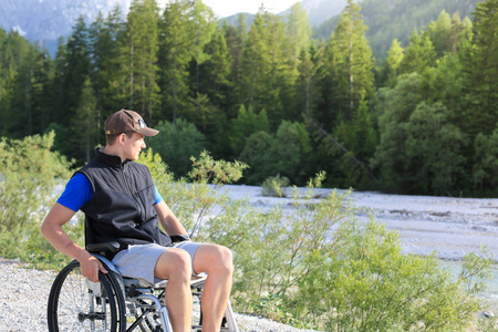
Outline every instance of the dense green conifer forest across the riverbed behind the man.
<svg viewBox="0 0 498 332">
<path fill-rule="evenodd" d="M 124 107 L 160 131 L 147 145 L 178 176 L 207 149 L 247 163 L 247 184 L 325 170 L 330 187 L 496 196 L 498 0 L 469 19 L 432 13 L 378 65 L 367 18 L 347 3 L 322 42 L 299 3 L 287 18 L 261 10 L 220 25 L 199 0 L 163 12 L 137 0 L 125 20 L 117 9 L 80 19 L 54 59 L 0 30 L 0 135 L 54 131 L 53 148 L 82 165 Z"/>
</svg>

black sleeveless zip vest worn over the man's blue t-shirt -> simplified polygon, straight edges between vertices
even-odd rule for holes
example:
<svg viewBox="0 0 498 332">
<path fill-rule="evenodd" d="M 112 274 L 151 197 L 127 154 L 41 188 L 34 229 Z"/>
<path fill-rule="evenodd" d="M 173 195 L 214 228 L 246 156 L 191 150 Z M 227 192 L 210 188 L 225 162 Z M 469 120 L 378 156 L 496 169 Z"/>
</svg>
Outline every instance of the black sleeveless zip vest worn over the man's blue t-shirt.
<svg viewBox="0 0 498 332">
<path fill-rule="evenodd" d="M 96 151 L 96 157 L 77 170 L 90 180 L 93 198 L 81 210 L 86 217 L 85 242 L 128 245 L 172 240 L 158 226 L 154 181 L 147 166 Z"/>
</svg>

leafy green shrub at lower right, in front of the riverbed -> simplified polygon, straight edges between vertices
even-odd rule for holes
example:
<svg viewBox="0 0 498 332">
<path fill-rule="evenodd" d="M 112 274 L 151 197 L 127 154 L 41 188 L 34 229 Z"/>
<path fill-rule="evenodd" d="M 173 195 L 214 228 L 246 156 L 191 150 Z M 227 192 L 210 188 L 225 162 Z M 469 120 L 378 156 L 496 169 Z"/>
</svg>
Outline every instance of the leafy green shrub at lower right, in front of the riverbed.
<svg viewBox="0 0 498 332">
<path fill-rule="evenodd" d="M 374 220 L 341 222 L 307 268 L 293 300 L 328 331 L 461 331 L 479 308 L 434 256 L 402 255 Z"/>
</svg>

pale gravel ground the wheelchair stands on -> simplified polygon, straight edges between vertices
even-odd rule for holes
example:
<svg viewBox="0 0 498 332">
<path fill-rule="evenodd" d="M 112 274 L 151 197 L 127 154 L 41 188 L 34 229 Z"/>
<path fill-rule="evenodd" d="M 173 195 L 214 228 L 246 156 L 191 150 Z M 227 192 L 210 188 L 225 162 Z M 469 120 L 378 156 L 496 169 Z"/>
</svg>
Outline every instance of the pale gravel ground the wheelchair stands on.
<svg viewBox="0 0 498 332">
<path fill-rule="evenodd" d="M 29 269 L 19 260 L 0 258 L 0 331 L 45 332 L 46 301 L 56 273 Z M 273 321 L 236 313 L 237 324 L 245 332 L 298 332 Z"/>
</svg>

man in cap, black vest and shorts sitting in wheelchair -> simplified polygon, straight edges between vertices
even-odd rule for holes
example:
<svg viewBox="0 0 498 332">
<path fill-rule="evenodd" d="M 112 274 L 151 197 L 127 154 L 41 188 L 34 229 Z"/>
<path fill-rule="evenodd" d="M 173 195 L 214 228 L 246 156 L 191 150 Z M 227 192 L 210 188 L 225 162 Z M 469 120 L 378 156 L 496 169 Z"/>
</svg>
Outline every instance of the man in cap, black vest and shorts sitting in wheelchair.
<svg viewBox="0 0 498 332">
<path fill-rule="evenodd" d="M 168 280 L 165 300 L 175 332 L 190 331 L 190 278 L 206 272 L 203 331 L 218 331 L 231 290 L 230 250 L 190 241 L 157 191 L 148 168 L 134 162 L 146 147 L 145 136 L 158 131 L 127 110 L 112 114 L 104 129 L 105 147 L 97 148 L 95 158 L 69 180 L 43 221 L 43 236 L 55 249 L 76 259 L 84 277 L 98 281 L 98 271 L 107 273 L 103 264 L 62 229 L 81 209 L 87 224 L 87 243 L 120 243 L 112 262 L 124 277 L 152 283 Z M 169 236 L 180 236 L 184 241 L 173 245 Z"/>
</svg>

